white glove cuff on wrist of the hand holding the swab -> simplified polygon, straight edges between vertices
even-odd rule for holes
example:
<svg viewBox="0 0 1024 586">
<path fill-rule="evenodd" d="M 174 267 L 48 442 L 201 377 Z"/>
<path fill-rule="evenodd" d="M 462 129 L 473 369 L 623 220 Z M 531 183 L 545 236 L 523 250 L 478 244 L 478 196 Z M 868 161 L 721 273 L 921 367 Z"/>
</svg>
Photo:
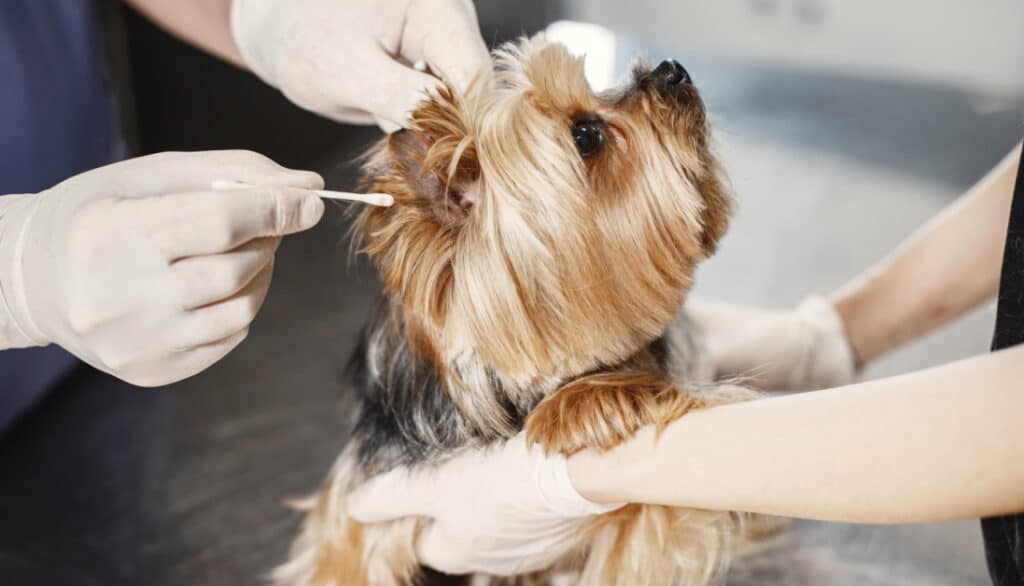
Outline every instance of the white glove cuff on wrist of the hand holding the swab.
<svg viewBox="0 0 1024 586">
<path fill-rule="evenodd" d="M 31 318 L 25 292 L 25 245 L 37 196 L 0 199 L 0 348 L 42 346 L 49 340 Z"/>
</svg>

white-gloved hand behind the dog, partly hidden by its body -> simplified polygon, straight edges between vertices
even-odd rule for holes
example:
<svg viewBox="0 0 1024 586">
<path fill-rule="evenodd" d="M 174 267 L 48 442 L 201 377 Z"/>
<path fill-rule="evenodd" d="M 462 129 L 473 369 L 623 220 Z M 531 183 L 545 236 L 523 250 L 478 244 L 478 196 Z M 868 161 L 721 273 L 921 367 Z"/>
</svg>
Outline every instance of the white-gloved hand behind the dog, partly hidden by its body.
<svg viewBox="0 0 1024 586">
<path fill-rule="evenodd" d="M 853 382 L 856 365 L 833 304 L 809 297 L 771 311 L 693 299 L 686 311 L 703 330 L 717 377 L 765 389 L 806 390 Z"/>
</svg>

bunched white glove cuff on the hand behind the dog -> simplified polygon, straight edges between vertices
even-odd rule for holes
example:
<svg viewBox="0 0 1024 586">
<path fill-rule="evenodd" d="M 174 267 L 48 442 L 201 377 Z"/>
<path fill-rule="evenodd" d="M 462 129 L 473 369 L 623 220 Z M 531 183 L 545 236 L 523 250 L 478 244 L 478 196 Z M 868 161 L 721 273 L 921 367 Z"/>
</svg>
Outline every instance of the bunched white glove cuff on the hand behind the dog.
<svg viewBox="0 0 1024 586">
<path fill-rule="evenodd" d="M 812 295 L 800 303 L 797 316 L 810 334 L 806 337 L 804 386 L 826 388 L 853 382 L 857 375 L 856 360 L 835 304 Z"/>
</svg>

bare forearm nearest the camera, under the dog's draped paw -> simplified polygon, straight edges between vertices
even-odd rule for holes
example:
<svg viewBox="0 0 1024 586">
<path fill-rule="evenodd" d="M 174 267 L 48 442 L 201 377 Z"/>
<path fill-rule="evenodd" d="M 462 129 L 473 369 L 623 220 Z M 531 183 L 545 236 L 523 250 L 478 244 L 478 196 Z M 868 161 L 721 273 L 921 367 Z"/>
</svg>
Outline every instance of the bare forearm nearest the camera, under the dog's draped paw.
<svg viewBox="0 0 1024 586">
<path fill-rule="evenodd" d="M 853 522 L 1024 510 L 1024 347 L 900 377 L 694 412 L 569 460 L 599 502 Z"/>
</svg>

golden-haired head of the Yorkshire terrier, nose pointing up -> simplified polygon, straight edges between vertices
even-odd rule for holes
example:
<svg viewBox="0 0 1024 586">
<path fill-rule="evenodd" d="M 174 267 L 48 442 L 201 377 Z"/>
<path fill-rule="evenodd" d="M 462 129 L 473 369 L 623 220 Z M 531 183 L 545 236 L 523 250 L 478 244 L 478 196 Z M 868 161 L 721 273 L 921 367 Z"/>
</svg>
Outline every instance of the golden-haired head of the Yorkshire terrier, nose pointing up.
<svg viewBox="0 0 1024 586">
<path fill-rule="evenodd" d="M 357 234 L 414 347 L 441 369 L 475 354 L 517 383 L 659 336 L 730 210 L 679 64 L 595 94 L 583 60 L 540 37 L 425 101 L 366 174 L 395 204 L 364 211 Z"/>
</svg>

